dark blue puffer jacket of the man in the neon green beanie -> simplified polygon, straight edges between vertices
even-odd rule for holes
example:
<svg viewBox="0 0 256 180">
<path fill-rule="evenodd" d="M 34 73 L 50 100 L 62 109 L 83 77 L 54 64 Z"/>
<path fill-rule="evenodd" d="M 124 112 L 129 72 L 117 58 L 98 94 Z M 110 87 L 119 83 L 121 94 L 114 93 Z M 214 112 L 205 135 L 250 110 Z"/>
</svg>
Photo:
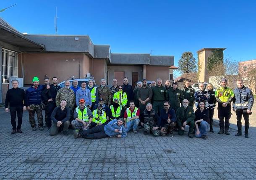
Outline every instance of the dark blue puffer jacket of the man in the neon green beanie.
<svg viewBox="0 0 256 180">
<path fill-rule="evenodd" d="M 42 91 L 45 89 L 45 85 L 39 84 L 37 89 L 31 86 L 29 89 L 26 90 L 26 106 L 31 104 L 40 105 L 42 102 Z"/>
</svg>

